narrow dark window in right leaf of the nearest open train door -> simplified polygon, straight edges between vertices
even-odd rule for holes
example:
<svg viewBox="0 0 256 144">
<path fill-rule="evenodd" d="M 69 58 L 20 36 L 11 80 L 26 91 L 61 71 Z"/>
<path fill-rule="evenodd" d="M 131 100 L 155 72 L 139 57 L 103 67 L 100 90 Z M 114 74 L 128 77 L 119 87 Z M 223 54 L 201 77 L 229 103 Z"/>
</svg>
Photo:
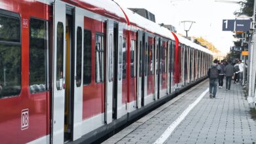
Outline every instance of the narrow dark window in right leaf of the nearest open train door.
<svg viewBox="0 0 256 144">
<path fill-rule="evenodd" d="M 82 28 L 77 27 L 76 33 L 76 86 L 81 86 L 82 78 Z"/>
</svg>

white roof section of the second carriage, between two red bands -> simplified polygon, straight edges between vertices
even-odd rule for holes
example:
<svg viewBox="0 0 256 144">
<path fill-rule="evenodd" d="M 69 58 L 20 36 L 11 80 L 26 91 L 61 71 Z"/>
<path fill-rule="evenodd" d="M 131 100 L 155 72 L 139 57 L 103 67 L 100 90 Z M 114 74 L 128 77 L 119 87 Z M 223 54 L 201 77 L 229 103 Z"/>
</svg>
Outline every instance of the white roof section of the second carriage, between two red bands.
<svg viewBox="0 0 256 144">
<path fill-rule="evenodd" d="M 159 24 L 156 24 L 155 22 L 152 22 L 151 20 L 148 20 L 144 18 L 143 16 L 140 16 L 139 14 L 129 10 L 129 9 L 123 9 L 127 17 L 129 18 L 129 21 L 131 24 L 141 27 L 143 29 L 146 29 L 152 33 L 156 33 L 158 35 L 161 35 L 162 37 L 165 37 L 167 39 L 175 40 L 173 37 L 173 34 L 169 29 L 160 26 Z"/>
</svg>

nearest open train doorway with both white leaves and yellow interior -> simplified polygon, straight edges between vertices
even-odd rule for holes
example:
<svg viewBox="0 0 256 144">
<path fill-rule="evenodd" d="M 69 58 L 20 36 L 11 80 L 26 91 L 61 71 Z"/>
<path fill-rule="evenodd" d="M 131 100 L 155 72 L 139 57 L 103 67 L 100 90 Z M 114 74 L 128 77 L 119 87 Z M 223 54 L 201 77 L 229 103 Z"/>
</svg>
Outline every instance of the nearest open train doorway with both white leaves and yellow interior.
<svg viewBox="0 0 256 144">
<path fill-rule="evenodd" d="M 82 10 L 55 1 L 52 143 L 81 137 L 82 49 Z"/>
</svg>

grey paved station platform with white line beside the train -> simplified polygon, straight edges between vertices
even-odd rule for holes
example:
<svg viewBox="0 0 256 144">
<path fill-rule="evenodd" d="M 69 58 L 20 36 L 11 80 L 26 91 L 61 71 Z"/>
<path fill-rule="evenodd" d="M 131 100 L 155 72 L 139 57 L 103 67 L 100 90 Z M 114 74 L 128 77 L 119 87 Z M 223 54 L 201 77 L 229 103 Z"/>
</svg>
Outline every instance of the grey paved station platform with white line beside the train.
<svg viewBox="0 0 256 144">
<path fill-rule="evenodd" d="M 103 143 L 255 143 L 255 110 L 242 86 L 218 88 L 216 99 L 208 88 L 201 82 Z"/>
</svg>

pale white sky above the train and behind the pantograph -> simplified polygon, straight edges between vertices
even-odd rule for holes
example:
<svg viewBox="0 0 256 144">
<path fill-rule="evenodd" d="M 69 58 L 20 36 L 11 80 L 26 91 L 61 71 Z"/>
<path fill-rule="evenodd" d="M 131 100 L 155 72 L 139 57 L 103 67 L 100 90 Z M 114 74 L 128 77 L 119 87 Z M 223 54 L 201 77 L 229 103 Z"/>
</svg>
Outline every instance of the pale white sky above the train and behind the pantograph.
<svg viewBox="0 0 256 144">
<path fill-rule="evenodd" d="M 234 12 L 240 9 L 236 3 L 215 0 L 114 0 L 122 7 L 144 8 L 156 16 L 157 24 L 171 24 L 177 33 L 186 35 L 182 21 L 192 24 L 188 37 L 203 37 L 223 53 L 230 51 L 235 39 L 231 31 L 222 31 L 223 20 L 234 20 Z M 230 0 L 238 1 L 238 0 Z"/>
</svg>

